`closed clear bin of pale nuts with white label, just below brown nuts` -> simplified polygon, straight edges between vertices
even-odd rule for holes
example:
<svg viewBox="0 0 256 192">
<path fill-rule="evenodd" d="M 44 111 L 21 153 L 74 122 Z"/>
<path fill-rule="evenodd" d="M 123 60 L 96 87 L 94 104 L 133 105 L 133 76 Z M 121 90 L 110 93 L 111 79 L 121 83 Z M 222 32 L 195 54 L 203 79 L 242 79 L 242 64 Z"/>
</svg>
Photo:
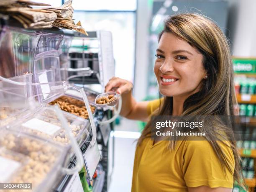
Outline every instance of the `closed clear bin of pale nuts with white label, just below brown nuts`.
<svg viewBox="0 0 256 192">
<path fill-rule="evenodd" d="M 80 145 L 89 136 L 90 123 L 83 118 L 75 117 L 69 113 L 63 112 L 67 119 L 69 127 Z M 57 142 L 64 146 L 70 146 L 69 136 L 56 116 L 56 111 L 52 108 L 41 108 L 36 113 L 32 113 L 28 118 L 23 118 L 11 129 L 32 134 L 44 139 Z"/>
</svg>

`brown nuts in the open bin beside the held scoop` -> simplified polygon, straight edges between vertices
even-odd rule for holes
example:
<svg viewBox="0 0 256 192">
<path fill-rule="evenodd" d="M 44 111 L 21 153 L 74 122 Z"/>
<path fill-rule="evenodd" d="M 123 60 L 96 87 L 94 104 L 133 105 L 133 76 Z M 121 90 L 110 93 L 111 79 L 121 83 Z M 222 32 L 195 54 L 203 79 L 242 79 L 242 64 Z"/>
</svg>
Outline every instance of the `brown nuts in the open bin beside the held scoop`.
<svg viewBox="0 0 256 192">
<path fill-rule="evenodd" d="M 78 117 L 87 119 L 89 117 L 87 109 L 84 105 L 84 102 L 81 100 L 74 99 L 72 97 L 61 96 L 56 100 L 49 103 L 50 105 L 59 105 L 61 110 L 64 110 Z M 95 112 L 95 107 L 90 106 L 92 113 Z"/>
</svg>

